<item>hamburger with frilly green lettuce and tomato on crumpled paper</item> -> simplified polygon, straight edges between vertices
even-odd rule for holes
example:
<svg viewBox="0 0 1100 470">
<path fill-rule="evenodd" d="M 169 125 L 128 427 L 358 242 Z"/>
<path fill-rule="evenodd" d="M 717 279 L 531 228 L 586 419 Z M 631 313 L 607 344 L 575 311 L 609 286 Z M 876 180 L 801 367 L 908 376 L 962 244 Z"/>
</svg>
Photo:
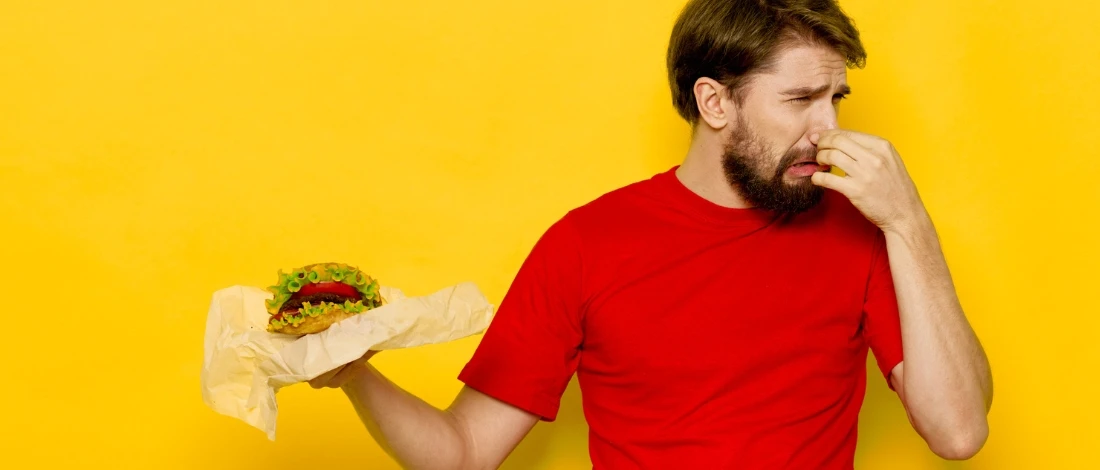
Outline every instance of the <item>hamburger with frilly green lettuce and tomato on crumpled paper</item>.
<svg viewBox="0 0 1100 470">
<path fill-rule="evenodd" d="M 290 273 L 278 271 L 278 283 L 266 288 L 267 331 L 309 335 L 332 324 L 385 305 L 378 281 L 355 266 L 318 263 Z"/>
</svg>

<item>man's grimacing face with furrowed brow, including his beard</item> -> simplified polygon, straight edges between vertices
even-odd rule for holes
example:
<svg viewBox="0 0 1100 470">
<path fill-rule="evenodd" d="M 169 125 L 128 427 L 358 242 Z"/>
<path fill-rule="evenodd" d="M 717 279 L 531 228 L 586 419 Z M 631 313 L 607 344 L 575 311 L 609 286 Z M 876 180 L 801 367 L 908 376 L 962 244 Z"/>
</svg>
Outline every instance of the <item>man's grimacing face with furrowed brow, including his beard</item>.
<svg viewBox="0 0 1100 470">
<path fill-rule="evenodd" d="M 848 92 L 844 56 L 818 45 L 787 48 L 773 69 L 750 80 L 723 155 L 726 178 L 741 197 L 785 214 L 816 205 L 824 189 L 810 178 L 828 168 L 817 165 L 810 136 L 836 128 Z"/>
</svg>

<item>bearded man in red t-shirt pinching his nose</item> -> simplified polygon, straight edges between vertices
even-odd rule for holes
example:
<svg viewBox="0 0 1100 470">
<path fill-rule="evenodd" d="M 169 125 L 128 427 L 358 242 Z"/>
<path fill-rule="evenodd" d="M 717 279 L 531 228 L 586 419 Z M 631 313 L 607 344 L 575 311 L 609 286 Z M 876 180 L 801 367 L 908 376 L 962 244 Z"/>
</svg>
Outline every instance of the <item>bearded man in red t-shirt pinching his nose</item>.
<svg viewBox="0 0 1100 470">
<path fill-rule="evenodd" d="M 832 1 L 691 1 L 682 165 L 547 230 L 454 403 L 365 361 L 314 386 L 407 468 L 499 466 L 575 373 L 595 468 L 850 469 L 870 349 L 932 451 L 974 456 L 990 371 L 933 225 L 893 147 L 837 129 L 864 58 Z"/>
</svg>

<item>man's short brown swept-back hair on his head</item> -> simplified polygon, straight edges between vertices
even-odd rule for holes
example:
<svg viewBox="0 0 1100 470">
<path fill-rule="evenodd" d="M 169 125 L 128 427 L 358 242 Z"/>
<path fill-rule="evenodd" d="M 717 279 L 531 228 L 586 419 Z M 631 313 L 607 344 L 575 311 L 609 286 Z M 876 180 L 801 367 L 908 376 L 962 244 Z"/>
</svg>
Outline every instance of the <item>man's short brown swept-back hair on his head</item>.
<svg viewBox="0 0 1100 470">
<path fill-rule="evenodd" d="M 693 90 L 701 77 L 727 87 L 740 105 L 747 78 L 774 65 L 794 42 L 833 47 L 849 67 L 862 67 L 867 52 L 859 31 L 834 0 L 690 0 L 669 41 L 672 102 L 688 122 L 698 120 Z"/>
</svg>

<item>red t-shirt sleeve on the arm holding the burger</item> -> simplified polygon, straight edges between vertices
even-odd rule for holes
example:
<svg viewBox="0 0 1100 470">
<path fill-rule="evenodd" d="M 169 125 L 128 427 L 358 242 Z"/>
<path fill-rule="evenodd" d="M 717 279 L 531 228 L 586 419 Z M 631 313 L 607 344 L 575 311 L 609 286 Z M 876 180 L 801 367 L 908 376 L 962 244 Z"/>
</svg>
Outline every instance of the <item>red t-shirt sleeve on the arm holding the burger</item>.
<svg viewBox="0 0 1100 470">
<path fill-rule="evenodd" d="M 459 380 L 554 420 L 580 360 L 581 283 L 580 238 L 563 218 L 527 255 Z"/>
</svg>

